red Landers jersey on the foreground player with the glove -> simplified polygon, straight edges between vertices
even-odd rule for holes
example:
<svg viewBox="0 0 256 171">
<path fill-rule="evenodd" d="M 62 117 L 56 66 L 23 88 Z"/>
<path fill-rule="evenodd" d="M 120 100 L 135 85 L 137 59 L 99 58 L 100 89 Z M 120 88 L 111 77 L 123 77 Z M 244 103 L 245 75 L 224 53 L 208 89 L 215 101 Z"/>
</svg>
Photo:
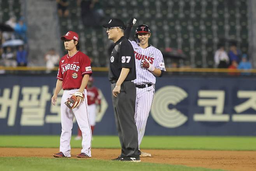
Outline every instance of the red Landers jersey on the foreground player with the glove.
<svg viewBox="0 0 256 171">
<path fill-rule="evenodd" d="M 60 59 L 57 78 L 63 81 L 63 89 L 79 89 L 83 75 L 91 75 L 91 73 L 89 57 L 81 51 L 77 51 L 73 56 L 67 54 Z"/>
</svg>

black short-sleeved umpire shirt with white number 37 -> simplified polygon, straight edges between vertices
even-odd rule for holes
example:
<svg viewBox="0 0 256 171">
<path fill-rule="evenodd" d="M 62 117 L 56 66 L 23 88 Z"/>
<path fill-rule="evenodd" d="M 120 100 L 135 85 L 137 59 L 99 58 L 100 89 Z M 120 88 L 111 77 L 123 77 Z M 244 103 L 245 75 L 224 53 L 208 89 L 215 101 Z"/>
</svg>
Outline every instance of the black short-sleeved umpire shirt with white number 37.
<svg viewBox="0 0 256 171">
<path fill-rule="evenodd" d="M 114 44 L 114 48 L 110 54 L 109 81 L 118 80 L 122 68 L 130 68 L 130 72 L 124 81 L 136 79 L 133 47 L 124 36 Z"/>
</svg>

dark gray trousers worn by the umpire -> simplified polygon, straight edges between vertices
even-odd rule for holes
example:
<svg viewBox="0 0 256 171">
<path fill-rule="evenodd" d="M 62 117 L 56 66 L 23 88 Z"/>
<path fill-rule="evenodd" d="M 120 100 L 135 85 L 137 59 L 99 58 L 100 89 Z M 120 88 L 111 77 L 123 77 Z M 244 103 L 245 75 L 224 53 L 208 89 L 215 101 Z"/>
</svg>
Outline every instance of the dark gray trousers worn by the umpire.
<svg viewBox="0 0 256 171">
<path fill-rule="evenodd" d="M 112 91 L 115 86 L 116 83 L 111 84 Z M 122 158 L 139 157 L 140 155 L 138 132 L 134 120 L 135 100 L 136 87 L 132 81 L 124 81 L 117 97 L 112 95 L 116 127 L 122 148 L 120 157 Z"/>
</svg>

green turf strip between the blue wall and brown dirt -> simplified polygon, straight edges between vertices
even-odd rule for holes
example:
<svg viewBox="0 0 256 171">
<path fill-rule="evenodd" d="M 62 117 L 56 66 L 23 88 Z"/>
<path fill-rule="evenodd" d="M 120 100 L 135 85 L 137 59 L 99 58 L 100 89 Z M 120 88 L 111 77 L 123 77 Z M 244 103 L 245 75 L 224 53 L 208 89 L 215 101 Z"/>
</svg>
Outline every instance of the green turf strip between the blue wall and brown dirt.
<svg viewBox="0 0 256 171">
<path fill-rule="evenodd" d="M 256 137 L 246 136 L 144 136 L 140 148 L 256 150 Z M 0 136 L 0 147 L 59 148 L 60 136 Z M 81 148 L 81 140 L 71 139 L 72 148 Z M 93 136 L 93 148 L 120 148 L 117 136 Z"/>
</svg>

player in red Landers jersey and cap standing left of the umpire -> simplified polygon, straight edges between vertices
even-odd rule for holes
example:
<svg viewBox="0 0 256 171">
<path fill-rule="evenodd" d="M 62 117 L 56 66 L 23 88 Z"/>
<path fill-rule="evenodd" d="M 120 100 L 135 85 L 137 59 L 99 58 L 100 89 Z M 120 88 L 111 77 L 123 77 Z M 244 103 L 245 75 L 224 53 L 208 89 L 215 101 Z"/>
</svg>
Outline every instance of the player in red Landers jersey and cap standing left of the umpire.
<svg viewBox="0 0 256 171">
<path fill-rule="evenodd" d="M 61 98 L 61 136 L 60 152 L 54 157 L 71 157 L 70 139 L 72 134 L 73 119 L 82 131 L 82 150 L 77 157 L 91 157 L 91 127 L 88 118 L 87 91 L 89 75 L 91 75 L 91 61 L 86 54 L 79 51 L 79 37 L 77 33 L 68 31 L 61 37 L 64 41 L 65 49 L 68 54 L 60 59 L 57 75 L 56 89 L 52 97 L 53 105 L 56 105 L 57 95 L 61 89 L 64 90 Z M 77 107 L 70 109 L 65 105 L 65 101 L 71 94 L 84 94 L 84 100 Z M 77 98 L 81 98 L 77 96 Z"/>
</svg>

